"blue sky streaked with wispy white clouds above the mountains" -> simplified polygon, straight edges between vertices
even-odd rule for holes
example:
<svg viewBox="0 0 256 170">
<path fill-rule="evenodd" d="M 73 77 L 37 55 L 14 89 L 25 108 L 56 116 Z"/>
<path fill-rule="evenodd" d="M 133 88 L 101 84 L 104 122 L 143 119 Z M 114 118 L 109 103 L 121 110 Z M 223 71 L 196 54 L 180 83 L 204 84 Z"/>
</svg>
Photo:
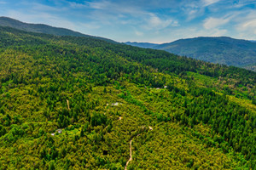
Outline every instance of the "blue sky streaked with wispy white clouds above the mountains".
<svg viewBox="0 0 256 170">
<path fill-rule="evenodd" d="M 256 0 L 0 0 L 0 15 L 118 42 L 256 40 Z"/>
</svg>

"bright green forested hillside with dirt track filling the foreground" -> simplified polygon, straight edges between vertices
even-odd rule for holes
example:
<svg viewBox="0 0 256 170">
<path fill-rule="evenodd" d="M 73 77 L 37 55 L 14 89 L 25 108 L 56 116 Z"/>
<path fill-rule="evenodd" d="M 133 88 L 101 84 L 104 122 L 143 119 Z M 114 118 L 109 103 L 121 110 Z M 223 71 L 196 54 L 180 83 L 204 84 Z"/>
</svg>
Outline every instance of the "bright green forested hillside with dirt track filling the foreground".
<svg viewBox="0 0 256 170">
<path fill-rule="evenodd" d="M 256 168 L 253 71 L 9 27 L 0 60 L 0 169 Z"/>
</svg>

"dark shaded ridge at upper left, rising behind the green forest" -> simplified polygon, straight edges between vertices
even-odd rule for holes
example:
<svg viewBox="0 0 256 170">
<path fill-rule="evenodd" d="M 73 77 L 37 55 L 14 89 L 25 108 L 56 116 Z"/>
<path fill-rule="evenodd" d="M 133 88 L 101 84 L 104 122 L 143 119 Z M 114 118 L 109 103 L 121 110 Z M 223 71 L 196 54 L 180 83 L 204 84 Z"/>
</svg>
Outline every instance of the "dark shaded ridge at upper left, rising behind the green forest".
<svg viewBox="0 0 256 170">
<path fill-rule="evenodd" d="M 73 36 L 73 37 L 93 37 L 89 35 L 82 34 L 78 31 L 72 31 L 66 28 L 58 28 L 54 26 L 48 26 L 44 24 L 28 24 L 21 22 L 20 20 L 11 19 L 9 17 L 0 17 L 0 26 L 9 26 L 22 31 L 31 31 L 37 33 L 51 34 L 55 36 Z M 108 42 L 114 42 L 108 38 L 95 37 Z"/>
</svg>

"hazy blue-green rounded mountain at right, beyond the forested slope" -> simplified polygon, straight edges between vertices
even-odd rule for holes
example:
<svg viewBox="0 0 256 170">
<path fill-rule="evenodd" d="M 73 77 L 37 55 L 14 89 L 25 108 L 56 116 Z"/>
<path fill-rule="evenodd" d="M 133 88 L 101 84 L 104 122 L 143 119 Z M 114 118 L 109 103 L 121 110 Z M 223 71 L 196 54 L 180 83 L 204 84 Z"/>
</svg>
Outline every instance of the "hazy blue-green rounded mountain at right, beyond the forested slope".
<svg viewBox="0 0 256 170">
<path fill-rule="evenodd" d="M 140 47 L 141 43 L 131 45 Z M 153 46 L 172 54 L 184 55 L 212 63 L 253 68 L 256 63 L 256 43 L 230 37 L 195 37 Z M 250 65 L 250 67 L 247 67 Z"/>
</svg>

